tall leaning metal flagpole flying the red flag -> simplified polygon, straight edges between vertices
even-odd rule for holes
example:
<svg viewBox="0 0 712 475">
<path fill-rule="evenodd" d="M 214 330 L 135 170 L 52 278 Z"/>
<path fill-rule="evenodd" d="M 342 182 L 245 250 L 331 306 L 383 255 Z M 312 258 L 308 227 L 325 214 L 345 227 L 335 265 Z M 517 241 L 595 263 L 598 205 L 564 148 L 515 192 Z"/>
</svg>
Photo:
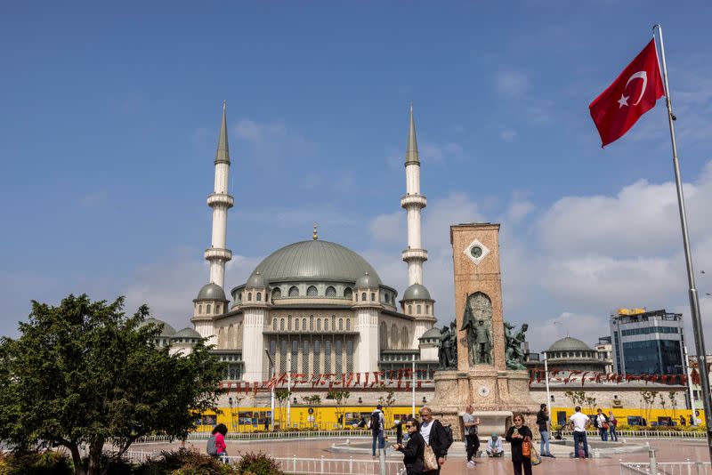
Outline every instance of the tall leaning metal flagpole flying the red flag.
<svg viewBox="0 0 712 475">
<path fill-rule="evenodd" d="M 705 423 L 707 425 L 707 443 L 709 451 L 709 459 L 712 461 L 712 394 L 710 394 L 709 377 L 707 372 L 707 361 L 705 355 L 705 337 L 702 331 L 702 318 L 700 316 L 700 300 L 695 288 L 695 275 L 692 270 L 692 252 L 690 251 L 690 237 L 687 233 L 687 214 L 684 209 L 683 183 L 680 180 L 680 164 L 677 161 L 677 143 L 675 141 L 675 120 L 677 117 L 673 114 L 672 100 L 670 99 L 670 86 L 667 84 L 667 64 L 665 62 L 665 44 L 662 39 L 662 27 L 655 25 L 652 27 L 653 35 L 655 28 L 658 28 L 658 37 L 660 39 L 660 59 L 662 60 L 662 77 L 665 85 L 665 102 L 667 104 L 667 122 L 670 125 L 670 140 L 673 147 L 673 166 L 675 168 L 675 184 L 677 188 L 677 205 L 680 210 L 680 224 L 683 228 L 683 246 L 684 259 L 687 264 L 687 280 L 690 285 L 690 311 L 692 313 L 692 331 L 695 335 L 695 349 L 697 350 L 697 359 L 701 362 L 700 367 L 700 384 L 702 386 L 702 403 L 705 408 Z"/>
</svg>

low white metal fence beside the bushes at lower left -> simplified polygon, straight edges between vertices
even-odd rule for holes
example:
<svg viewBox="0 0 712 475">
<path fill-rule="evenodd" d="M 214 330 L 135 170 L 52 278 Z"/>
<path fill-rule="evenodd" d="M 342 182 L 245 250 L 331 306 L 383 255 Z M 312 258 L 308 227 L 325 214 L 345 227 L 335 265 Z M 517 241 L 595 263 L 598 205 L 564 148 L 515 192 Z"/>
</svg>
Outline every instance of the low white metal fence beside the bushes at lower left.
<svg viewBox="0 0 712 475">
<path fill-rule="evenodd" d="M 131 463 L 143 463 L 150 457 L 157 457 L 157 452 L 127 451 L 124 458 Z M 238 463 L 240 456 L 233 455 L 225 457 L 228 463 Z M 303 458 L 297 457 L 276 457 L 274 460 L 279 463 L 281 469 L 294 475 L 401 475 L 404 473 L 402 462 L 387 461 L 384 463 L 385 471 L 381 471 L 381 462 L 378 460 L 360 459 L 335 459 L 325 458 Z M 696 474 L 695 474 L 696 475 Z M 701 474 L 700 474 L 701 475 Z"/>
</svg>

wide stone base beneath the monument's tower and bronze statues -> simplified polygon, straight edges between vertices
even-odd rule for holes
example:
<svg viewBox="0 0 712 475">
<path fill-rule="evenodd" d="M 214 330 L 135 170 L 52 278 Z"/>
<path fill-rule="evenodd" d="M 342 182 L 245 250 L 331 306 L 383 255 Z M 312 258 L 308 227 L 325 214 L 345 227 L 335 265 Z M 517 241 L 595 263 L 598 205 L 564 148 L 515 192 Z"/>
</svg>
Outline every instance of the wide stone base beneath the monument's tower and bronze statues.
<svg viewBox="0 0 712 475">
<path fill-rule="evenodd" d="M 529 374 L 524 371 L 498 371 L 492 366 L 474 366 L 467 372 L 435 372 L 435 394 L 430 405 L 433 416 L 452 426 L 455 439 L 465 437 L 462 414 L 472 404 L 480 418 L 481 438 L 491 432 L 504 435 L 512 425 L 512 415 L 522 413 L 525 424 L 535 434 L 538 404 L 531 399 Z"/>
</svg>

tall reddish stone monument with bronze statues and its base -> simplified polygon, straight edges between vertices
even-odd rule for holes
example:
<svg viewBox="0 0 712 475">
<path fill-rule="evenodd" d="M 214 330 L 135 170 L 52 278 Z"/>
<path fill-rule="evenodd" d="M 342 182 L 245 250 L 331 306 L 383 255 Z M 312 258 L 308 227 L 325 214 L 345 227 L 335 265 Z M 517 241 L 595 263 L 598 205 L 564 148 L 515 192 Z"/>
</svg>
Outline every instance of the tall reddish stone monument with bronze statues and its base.
<svg viewBox="0 0 712 475">
<path fill-rule="evenodd" d="M 450 226 L 455 274 L 456 326 L 443 327 L 441 369 L 435 372 L 433 415 L 462 437 L 460 415 L 472 404 L 480 434 L 500 434 L 521 412 L 532 431 L 538 404 L 531 399 L 522 365 L 526 324 L 518 330 L 502 315 L 499 224 Z M 447 333 L 447 334 L 446 334 Z M 455 350 L 449 344 L 455 340 Z M 455 361 L 450 358 L 455 353 Z"/>
</svg>

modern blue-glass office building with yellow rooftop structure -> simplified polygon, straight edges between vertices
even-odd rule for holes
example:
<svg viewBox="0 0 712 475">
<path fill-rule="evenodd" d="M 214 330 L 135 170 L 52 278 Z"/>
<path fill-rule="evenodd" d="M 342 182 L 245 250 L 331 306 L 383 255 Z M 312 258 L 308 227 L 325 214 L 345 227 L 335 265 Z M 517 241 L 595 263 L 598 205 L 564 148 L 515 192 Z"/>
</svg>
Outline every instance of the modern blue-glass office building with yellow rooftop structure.
<svg viewBox="0 0 712 475">
<path fill-rule="evenodd" d="M 683 374 L 683 315 L 666 310 L 619 309 L 611 315 L 613 371 Z"/>
</svg>

